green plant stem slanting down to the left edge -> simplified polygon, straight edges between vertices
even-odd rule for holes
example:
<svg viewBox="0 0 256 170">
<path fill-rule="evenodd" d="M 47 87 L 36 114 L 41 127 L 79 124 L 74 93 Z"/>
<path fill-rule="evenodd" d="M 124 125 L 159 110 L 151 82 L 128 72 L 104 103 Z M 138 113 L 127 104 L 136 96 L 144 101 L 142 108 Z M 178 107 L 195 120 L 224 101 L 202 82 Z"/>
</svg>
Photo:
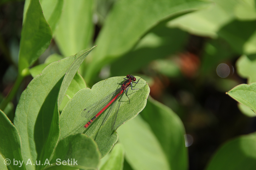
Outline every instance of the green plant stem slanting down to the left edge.
<svg viewBox="0 0 256 170">
<path fill-rule="evenodd" d="M 20 87 L 20 84 L 21 84 L 23 78 L 24 78 L 24 76 L 18 74 L 11 91 L 8 93 L 6 98 L 0 104 L 0 109 L 1 110 L 4 110 L 5 107 L 7 106 L 7 104 L 13 99 L 14 95 L 17 93 L 17 91 Z"/>
</svg>

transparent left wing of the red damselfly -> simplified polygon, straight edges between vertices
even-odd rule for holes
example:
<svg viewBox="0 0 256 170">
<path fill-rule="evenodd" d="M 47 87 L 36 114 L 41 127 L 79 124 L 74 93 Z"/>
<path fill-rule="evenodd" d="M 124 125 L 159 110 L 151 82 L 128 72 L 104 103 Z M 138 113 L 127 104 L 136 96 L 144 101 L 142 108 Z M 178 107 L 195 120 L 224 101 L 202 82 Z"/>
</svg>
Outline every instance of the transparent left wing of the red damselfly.
<svg viewBox="0 0 256 170">
<path fill-rule="evenodd" d="M 93 103 L 91 106 L 86 107 L 82 111 L 81 116 L 85 117 L 85 119 L 91 119 L 93 116 L 99 113 L 100 110 L 103 109 L 103 107 L 105 107 L 120 92 L 120 90 L 121 90 L 121 87 L 118 88 L 116 91 L 110 93 L 108 96 L 104 97 L 103 99 Z M 113 104 L 114 103 L 112 103 L 112 106 Z"/>
</svg>

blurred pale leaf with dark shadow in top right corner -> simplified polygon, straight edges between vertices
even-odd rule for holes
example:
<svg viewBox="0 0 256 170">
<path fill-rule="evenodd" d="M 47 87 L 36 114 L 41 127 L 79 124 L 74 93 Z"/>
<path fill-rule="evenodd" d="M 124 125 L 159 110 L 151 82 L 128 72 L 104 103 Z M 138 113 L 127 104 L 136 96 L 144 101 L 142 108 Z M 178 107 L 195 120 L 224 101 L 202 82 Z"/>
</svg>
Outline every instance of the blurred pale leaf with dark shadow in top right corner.
<svg viewBox="0 0 256 170">
<path fill-rule="evenodd" d="M 252 1 L 214 0 L 211 8 L 195 11 L 168 23 L 189 33 L 212 38 L 224 38 L 234 51 L 240 54 L 256 53 L 256 32 L 254 21 L 236 21 L 238 18 L 255 18 Z M 251 4 L 251 5 L 249 5 Z M 241 31 L 244 30 L 244 31 Z M 245 31 L 246 30 L 246 31 Z"/>
</svg>

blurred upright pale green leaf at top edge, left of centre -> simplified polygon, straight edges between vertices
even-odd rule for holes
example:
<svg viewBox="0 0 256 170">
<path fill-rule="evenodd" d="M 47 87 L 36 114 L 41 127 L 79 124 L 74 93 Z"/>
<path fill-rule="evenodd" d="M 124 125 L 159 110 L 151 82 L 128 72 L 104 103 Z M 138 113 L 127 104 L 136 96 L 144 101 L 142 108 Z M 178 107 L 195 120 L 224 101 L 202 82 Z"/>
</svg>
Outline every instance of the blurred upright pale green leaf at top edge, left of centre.
<svg viewBox="0 0 256 170">
<path fill-rule="evenodd" d="M 55 31 L 55 40 L 63 56 L 73 55 L 88 47 L 93 34 L 92 10 L 92 0 L 64 1 Z"/>
</svg>

